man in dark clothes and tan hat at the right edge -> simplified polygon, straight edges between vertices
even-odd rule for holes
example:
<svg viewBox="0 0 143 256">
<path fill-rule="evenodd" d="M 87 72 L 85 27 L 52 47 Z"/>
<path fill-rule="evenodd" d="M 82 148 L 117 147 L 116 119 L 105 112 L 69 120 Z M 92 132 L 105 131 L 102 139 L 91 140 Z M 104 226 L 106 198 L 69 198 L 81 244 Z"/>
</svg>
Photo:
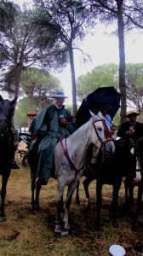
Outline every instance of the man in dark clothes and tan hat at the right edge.
<svg viewBox="0 0 143 256">
<path fill-rule="evenodd" d="M 123 137 L 126 139 L 139 140 L 143 136 L 143 124 L 136 121 L 137 116 L 140 113 L 135 110 L 130 110 L 126 113 L 125 117 L 129 120 L 124 122 L 117 131 L 117 137 Z"/>
</svg>

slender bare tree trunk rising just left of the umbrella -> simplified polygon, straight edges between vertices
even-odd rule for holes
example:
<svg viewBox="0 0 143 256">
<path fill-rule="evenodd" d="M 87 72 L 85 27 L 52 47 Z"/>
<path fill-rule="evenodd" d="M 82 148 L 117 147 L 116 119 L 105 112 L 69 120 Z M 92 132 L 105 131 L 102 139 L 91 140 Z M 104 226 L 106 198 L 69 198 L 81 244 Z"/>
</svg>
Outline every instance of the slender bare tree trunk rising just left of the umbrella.
<svg viewBox="0 0 143 256">
<path fill-rule="evenodd" d="M 76 84 L 72 45 L 69 48 L 69 55 L 70 55 L 70 67 L 71 67 L 71 74 L 72 74 L 72 114 L 76 114 L 77 113 L 77 84 Z"/>
</svg>

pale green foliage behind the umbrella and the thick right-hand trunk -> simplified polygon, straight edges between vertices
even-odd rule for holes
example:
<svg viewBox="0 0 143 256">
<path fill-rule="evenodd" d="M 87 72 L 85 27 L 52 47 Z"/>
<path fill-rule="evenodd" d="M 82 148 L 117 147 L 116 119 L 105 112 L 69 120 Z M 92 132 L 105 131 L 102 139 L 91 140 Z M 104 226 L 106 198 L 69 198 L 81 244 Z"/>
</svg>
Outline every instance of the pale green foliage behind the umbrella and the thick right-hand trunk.
<svg viewBox="0 0 143 256">
<path fill-rule="evenodd" d="M 126 64 L 126 90 L 128 107 L 136 108 L 143 113 L 143 64 Z M 77 96 L 82 101 L 98 87 L 114 86 L 118 90 L 118 65 L 105 64 L 77 79 Z"/>
</svg>

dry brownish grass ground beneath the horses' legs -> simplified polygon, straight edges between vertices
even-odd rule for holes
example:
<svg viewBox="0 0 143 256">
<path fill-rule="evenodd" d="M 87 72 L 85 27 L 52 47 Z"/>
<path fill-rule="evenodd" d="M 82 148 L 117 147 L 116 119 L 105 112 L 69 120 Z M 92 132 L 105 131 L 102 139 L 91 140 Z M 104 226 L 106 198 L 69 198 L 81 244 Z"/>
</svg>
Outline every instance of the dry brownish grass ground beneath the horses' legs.
<svg viewBox="0 0 143 256">
<path fill-rule="evenodd" d="M 112 244 L 119 244 L 128 256 L 143 255 L 143 218 L 135 226 L 129 212 L 124 211 L 124 188 L 119 193 L 119 213 L 117 225 L 112 224 L 110 204 L 112 186 L 103 187 L 103 207 L 101 210 L 102 230 L 95 229 L 95 182 L 90 184 L 91 207 L 84 210 L 85 195 L 80 185 L 81 204 L 75 204 L 72 198 L 70 219 L 72 230 L 69 236 L 54 237 L 56 217 L 57 182 L 51 178 L 43 186 L 38 212 L 31 211 L 31 175 L 27 167 L 12 170 L 9 177 L 6 196 L 7 221 L 0 223 L 0 255 L 3 256 L 107 256 Z M 83 178 L 82 178 L 83 180 Z M 135 197 L 137 190 L 134 190 Z M 66 192 L 65 192 L 66 196 Z"/>
</svg>

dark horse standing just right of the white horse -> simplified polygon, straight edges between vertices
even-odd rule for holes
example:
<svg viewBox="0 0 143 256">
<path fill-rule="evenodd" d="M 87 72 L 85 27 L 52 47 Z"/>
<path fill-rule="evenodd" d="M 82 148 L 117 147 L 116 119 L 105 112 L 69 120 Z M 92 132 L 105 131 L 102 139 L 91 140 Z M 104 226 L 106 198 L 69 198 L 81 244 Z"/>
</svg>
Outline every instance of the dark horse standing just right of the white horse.
<svg viewBox="0 0 143 256">
<path fill-rule="evenodd" d="M 100 211 L 102 205 L 102 187 L 104 184 L 112 184 L 112 217 L 113 221 L 117 220 L 117 205 L 118 205 L 118 192 L 122 184 L 122 178 L 128 177 L 131 181 L 135 177 L 135 159 L 134 155 L 130 151 L 126 150 L 126 146 L 123 145 L 123 141 L 116 143 L 116 149 L 112 156 L 108 157 L 101 149 L 97 158 L 97 162 L 94 166 L 89 164 L 89 159 L 86 160 L 86 170 L 84 173 L 86 177 L 83 181 L 83 187 L 86 195 L 86 207 L 89 207 L 89 183 L 96 179 L 96 222 L 95 226 L 100 228 Z M 90 154 L 89 154 L 90 155 Z M 94 172 L 96 170 L 96 172 Z M 89 172 L 90 171 L 90 172 Z M 78 191 L 76 198 L 78 199 Z"/>
</svg>

